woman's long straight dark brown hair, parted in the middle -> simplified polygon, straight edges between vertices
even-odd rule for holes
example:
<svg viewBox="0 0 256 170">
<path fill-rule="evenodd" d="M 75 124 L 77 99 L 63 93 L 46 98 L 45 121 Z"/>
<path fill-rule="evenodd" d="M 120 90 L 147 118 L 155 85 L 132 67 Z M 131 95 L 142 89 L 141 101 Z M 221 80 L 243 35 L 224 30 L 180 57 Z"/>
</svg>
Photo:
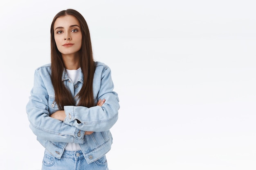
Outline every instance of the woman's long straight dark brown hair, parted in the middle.
<svg viewBox="0 0 256 170">
<path fill-rule="evenodd" d="M 52 85 L 55 91 L 55 101 L 59 109 L 64 106 L 73 106 L 74 98 L 70 91 L 65 87 L 62 81 L 64 68 L 61 52 L 58 51 L 54 40 L 54 23 L 58 17 L 65 15 L 73 15 L 79 20 L 82 32 L 82 46 L 80 52 L 80 67 L 83 72 L 83 86 L 77 94 L 79 97 L 79 106 L 92 107 L 95 105 L 92 92 L 93 75 L 95 71 L 94 59 L 92 55 L 92 44 L 88 25 L 84 17 L 74 9 L 63 10 L 56 14 L 51 25 L 51 65 L 52 65 Z"/>
</svg>

